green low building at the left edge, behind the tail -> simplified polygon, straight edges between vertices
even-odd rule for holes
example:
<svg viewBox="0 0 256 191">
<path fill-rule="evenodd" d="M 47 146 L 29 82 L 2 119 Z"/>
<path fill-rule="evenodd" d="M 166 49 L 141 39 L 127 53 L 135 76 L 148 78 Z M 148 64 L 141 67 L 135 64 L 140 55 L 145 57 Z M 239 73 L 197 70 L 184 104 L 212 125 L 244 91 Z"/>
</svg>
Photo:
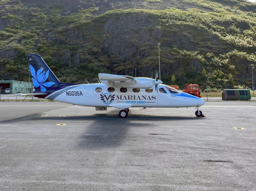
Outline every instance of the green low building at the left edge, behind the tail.
<svg viewBox="0 0 256 191">
<path fill-rule="evenodd" d="M 2 88 L 1 88 L 2 87 Z M 10 94 L 17 92 L 32 93 L 34 86 L 31 82 L 22 82 L 15 80 L 1 80 L 0 81 L 1 94 L 6 93 L 6 89 L 10 88 Z"/>
</svg>

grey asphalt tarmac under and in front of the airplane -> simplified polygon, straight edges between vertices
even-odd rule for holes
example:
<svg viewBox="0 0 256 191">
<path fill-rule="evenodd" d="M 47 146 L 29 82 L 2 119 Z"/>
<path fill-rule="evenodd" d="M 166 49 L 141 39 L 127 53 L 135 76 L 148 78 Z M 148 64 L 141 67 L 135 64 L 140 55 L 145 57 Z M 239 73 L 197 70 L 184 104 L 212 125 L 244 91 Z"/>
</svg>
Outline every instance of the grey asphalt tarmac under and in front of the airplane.
<svg viewBox="0 0 256 191">
<path fill-rule="evenodd" d="M 256 102 L 201 110 L 0 102 L 0 190 L 255 191 Z"/>
</svg>

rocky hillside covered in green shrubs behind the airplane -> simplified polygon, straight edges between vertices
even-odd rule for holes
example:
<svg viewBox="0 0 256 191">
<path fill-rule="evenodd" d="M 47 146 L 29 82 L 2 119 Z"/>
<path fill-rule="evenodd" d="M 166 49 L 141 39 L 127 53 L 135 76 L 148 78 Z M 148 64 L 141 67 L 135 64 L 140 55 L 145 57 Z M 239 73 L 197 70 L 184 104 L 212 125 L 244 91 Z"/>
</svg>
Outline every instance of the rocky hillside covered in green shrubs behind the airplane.
<svg viewBox="0 0 256 191">
<path fill-rule="evenodd" d="M 256 4 L 245 0 L 2 0 L 0 78 L 28 80 L 39 53 L 61 81 L 99 72 L 178 85 L 251 87 Z M 256 73 L 255 73 L 256 76 Z"/>
</svg>

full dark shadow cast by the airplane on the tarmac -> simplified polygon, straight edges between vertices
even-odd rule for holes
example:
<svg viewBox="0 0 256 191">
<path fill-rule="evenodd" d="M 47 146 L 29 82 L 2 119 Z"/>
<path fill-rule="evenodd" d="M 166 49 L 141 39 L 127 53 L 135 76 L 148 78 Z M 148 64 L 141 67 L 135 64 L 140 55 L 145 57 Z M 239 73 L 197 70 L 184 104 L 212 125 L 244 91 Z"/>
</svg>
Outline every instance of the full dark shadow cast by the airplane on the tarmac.
<svg viewBox="0 0 256 191">
<path fill-rule="evenodd" d="M 88 125 L 85 125 L 85 132 L 79 136 L 78 139 L 78 149 L 85 150 L 102 150 L 104 148 L 112 148 L 122 145 L 123 140 L 126 138 L 126 134 L 130 127 L 148 128 L 148 133 L 152 133 L 152 128 L 156 127 L 157 121 L 173 121 L 173 120 L 200 120 L 196 117 L 182 117 L 182 116 L 151 116 L 144 114 L 132 114 L 128 118 L 119 118 L 118 114 L 114 112 L 108 112 L 105 114 L 93 114 L 90 116 L 47 116 L 38 117 L 36 115 L 29 115 L 23 118 L 16 118 L 8 120 L 10 122 L 26 122 L 35 120 L 50 120 L 59 121 L 60 119 L 66 123 L 71 123 L 73 121 L 74 126 L 76 126 L 75 121 L 90 121 Z M 70 121 L 70 122 L 69 122 Z M 2 121 L 3 122 L 3 121 Z M 79 125 L 79 128 L 81 126 Z M 171 128 L 171 125 L 170 125 Z"/>
</svg>

